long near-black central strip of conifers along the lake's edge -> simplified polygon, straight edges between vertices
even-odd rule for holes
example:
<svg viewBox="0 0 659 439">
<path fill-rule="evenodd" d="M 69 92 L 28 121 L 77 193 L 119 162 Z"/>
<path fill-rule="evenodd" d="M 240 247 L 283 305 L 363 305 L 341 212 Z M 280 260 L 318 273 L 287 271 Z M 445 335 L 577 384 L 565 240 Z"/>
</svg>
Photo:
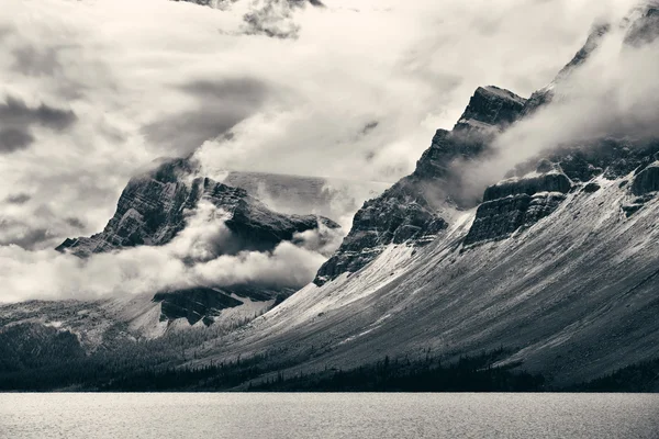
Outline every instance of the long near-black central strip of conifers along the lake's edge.
<svg viewBox="0 0 659 439">
<path fill-rule="evenodd" d="M 99 386 L 100 391 L 258 391 L 258 392 L 541 392 L 541 375 L 492 364 L 503 349 L 462 357 L 443 364 L 428 354 L 423 360 L 384 357 L 351 370 L 326 368 L 287 375 L 293 362 L 278 362 L 269 353 L 198 368 L 168 368 L 129 373 Z"/>
</svg>

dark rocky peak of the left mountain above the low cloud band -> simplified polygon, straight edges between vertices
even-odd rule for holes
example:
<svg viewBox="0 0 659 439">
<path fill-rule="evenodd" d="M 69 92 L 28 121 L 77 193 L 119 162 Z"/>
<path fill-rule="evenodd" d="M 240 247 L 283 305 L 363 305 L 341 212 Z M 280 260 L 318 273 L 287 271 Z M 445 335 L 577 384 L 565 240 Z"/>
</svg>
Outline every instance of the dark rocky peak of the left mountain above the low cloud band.
<svg viewBox="0 0 659 439">
<path fill-rule="evenodd" d="M 133 178 L 121 194 L 116 212 L 103 232 L 66 239 L 57 250 L 87 257 L 141 245 L 161 246 L 186 226 L 189 212 L 208 201 L 227 214 L 226 226 L 237 238 L 235 251 L 270 250 L 295 233 L 338 225 L 315 215 L 282 215 L 243 189 L 191 177 L 192 165 L 177 159 Z M 190 181 L 191 180 L 191 181 Z"/>
</svg>

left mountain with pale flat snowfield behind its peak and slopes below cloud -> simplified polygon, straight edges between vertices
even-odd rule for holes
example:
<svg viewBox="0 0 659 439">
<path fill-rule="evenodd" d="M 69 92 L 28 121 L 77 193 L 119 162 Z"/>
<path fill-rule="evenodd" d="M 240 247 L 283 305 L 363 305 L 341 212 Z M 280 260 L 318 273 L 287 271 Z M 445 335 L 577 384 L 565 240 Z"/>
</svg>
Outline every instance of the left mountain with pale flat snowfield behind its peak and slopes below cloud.
<svg viewBox="0 0 659 439">
<path fill-rule="evenodd" d="M 160 160 L 153 170 L 131 179 L 101 233 L 68 238 L 57 249 L 86 259 L 137 246 L 165 246 L 186 229 L 201 204 L 210 203 L 223 212 L 233 238 L 224 240 L 215 256 L 267 252 L 282 241 L 297 243 L 297 234 L 319 225 L 336 230 L 336 223 L 319 215 L 351 214 L 357 203 L 386 187 L 239 171 L 226 172 L 220 179 L 199 177 L 199 166 L 191 159 Z M 266 199 L 278 212 L 259 199 Z M 55 342 L 43 340 L 68 331 L 79 340 L 82 351 L 90 352 L 181 330 L 203 330 L 208 333 L 204 337 L 210 337 L 245 325 L 292 292 L 290 286 L 264 284 L 192 285 L 119 299 L 32 301 L 0 306 L 0 327 L 11 325 L 14 333 L 19 327 L 36 330 L 42 342 Z"/>
</svg>

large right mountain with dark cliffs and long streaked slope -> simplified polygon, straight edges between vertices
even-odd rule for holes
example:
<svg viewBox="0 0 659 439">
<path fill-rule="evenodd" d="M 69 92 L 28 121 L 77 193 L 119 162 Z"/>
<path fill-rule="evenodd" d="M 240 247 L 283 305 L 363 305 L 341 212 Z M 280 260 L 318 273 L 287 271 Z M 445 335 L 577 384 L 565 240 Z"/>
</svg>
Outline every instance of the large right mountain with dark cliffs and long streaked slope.
<svg viewBox="0 0 659 439">
<path fill-rule="evenodd" d="M 622 24 L 626 45 L 652 41 L 655 14 L 648 7 Z M 265 352 L 278 374 L 309 376 L 384 357 L 451 363 L 499 351 L 494 367 L 562 389 L 659 358 L 658 139 L 557 146 L 480 200 L 461 196 L 469 176 L 456 175 L 491 154 L 498 132 L 566 93 L 607 29 L 529 100 L 478 89 L 414 173 L 365 203 L 313 284 L 189 367 Z M 657 389 L 656 370 L 649 376 Z"/>
</svg>

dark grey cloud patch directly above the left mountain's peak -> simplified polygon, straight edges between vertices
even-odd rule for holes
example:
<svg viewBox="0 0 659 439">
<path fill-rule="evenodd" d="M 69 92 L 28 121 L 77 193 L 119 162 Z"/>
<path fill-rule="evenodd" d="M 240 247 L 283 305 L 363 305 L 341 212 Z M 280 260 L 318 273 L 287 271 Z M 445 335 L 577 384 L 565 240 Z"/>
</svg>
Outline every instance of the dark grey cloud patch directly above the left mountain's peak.
<svg viewBox="0 0 659 439">
<path fill-rule="evenodd" d="M 196 98 L 197 109 L 172 114 L 144 128 L 152 144 L 178 155 L 188 155 L 209 138 L 227 133 L 258 110 L 268 94 L 264 82 L 249 78 L 194 81 L 179 90 Z"/>
</svg>

